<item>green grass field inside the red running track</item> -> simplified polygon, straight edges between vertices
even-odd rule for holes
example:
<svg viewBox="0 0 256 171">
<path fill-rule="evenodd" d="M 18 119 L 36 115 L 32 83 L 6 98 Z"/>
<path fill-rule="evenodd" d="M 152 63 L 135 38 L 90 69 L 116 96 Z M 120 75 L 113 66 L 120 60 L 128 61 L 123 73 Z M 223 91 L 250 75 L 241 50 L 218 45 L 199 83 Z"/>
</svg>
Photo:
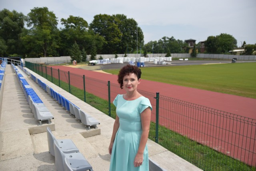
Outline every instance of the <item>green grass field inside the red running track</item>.
<svg viewBox="0 0 256 171">
<path fill-rule="evenodd" d="M 256 62 L 141 68 L 142 79 L 256 99 Z M 104 70 L 118 74 L 117 70 Z"/>
</svg>

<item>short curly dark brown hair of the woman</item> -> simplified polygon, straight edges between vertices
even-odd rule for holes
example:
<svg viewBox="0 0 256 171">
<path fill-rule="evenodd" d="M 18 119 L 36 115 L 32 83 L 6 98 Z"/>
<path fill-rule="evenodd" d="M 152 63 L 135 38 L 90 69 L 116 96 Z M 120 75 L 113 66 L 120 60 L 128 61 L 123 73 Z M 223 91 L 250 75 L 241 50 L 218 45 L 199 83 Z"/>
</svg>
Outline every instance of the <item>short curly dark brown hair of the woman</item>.
<svg viewBox="0 0 256 171">
<path fill-rule="evenodd" d="M 132 66 L 130 64 L 124 66 L 118 74 L 118 83 L 120 84 L 120 88 L 123 89 L 124 83 L 123 83 L 123 78 L 126 75 L 129 75 L 130 73 L 134 73 L 138 80 L 140 79 L 141 76 L 141 70 L 137 66 Z"/>
</svg>

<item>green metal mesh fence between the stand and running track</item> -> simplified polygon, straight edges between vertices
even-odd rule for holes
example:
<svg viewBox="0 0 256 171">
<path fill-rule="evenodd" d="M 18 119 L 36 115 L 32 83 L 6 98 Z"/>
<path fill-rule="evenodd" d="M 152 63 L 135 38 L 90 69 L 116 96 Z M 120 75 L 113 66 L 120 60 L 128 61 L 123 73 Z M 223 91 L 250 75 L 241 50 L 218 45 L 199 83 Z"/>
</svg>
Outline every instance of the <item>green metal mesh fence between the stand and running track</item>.
<svg viewBox="0 0 256 171">
<path fill-rule="evenodd" d="M 115 118 L 118 84 L 26 62 L 26 67 Z M 203 170 L 256 170 L 256 120 L 138 90 L 153 107 L 149 138 Z"/>
</svg>

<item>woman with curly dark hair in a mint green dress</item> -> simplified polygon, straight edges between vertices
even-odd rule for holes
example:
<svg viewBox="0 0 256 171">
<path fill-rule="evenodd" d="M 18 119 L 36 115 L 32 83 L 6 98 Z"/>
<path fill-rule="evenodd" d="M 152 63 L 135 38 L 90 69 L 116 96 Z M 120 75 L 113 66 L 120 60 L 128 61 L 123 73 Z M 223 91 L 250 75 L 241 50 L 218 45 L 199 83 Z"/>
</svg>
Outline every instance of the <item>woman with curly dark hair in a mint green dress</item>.
<svg viewBox="0 0 256 171">
<path fill-rule="evenodd" d="M 116 120 L 108 151 L 110 171 L 148 171 L 148 133 L 152 106 L 148 98 L 137 91 L 141 71 L 126 65 L 118 74 L 118 83 L 125 94 L 118 94 Z"/>
</svg>

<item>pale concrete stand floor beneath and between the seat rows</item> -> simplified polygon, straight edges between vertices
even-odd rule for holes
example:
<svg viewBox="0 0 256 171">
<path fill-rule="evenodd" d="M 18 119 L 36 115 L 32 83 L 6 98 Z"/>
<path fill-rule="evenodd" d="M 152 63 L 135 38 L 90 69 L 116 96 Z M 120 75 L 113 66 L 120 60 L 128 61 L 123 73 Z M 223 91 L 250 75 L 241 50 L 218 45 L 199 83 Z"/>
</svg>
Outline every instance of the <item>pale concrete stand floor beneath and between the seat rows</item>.
<svg viewBox="0 0 256 171">
<path fill-rule="evenodd" d="M 20 68 L 18 70 L 54 115 L 54 119 L 49 125 L 43 122 L 42 126 L 38 126 L 12 66 L 6 65 L 0 98 L 0 170 L 54 171 L 55 160 L 48 152 L 46 134 L 46 127 L 50 126 L 57 139 L 72 139 L 94 171 L 108 171 L 108 145 L 114 119 L 29 70 L 42 82 L 100 121 L 98 129 L 88 130 Z M 149 139 L 148 150 L 150 158 L 168 171 L 201 170 Z"/>
</svg>

